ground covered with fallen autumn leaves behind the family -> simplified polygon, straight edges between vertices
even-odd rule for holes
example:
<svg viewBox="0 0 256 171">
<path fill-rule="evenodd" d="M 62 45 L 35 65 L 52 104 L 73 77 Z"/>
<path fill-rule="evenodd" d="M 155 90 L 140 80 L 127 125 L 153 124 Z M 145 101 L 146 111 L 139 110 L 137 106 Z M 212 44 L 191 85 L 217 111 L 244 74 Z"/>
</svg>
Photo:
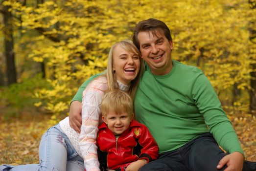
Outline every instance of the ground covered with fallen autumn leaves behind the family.
<svg viewBox="0 0 256 171">
<path fill-rule="evenodd" d="M 38 163 L 38 147 L 41 136 L 50 126 L 50 115 L 25 111 L 6 119 L 3 111 L 0 109 L 0 165 Z M 238 134 L 246 160 L 256 161 L 256 117 L 251 114 L 228 116 Z"/>
</svg>

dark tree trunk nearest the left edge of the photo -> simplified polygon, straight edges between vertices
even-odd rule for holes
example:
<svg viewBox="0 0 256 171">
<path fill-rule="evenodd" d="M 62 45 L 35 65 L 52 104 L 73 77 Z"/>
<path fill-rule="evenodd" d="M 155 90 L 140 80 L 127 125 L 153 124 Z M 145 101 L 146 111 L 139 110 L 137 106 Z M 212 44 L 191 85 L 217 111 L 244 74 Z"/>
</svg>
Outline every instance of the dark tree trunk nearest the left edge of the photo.
<svg viewBox="0 0 256 171">
<path fill-rule="evenodd" d="M 8 6 L 3 6 L 3 23 L 4 23 L 4 47 L 5 47 L 5 58 L 6 58 L 6 74 L 7 74 L 7 85 L 16 83 L 16 68 L 15 68 L 15 54 L 13 45 L 13 25 L 12 15 L 8 11 Z"/>
</svg>

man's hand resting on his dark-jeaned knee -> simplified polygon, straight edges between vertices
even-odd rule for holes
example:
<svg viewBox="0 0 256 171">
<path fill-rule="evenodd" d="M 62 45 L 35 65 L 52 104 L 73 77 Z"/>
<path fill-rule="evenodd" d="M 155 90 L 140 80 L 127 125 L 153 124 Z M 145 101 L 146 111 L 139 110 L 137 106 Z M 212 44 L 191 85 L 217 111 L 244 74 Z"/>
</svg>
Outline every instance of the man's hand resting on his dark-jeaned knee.
<svg viewBox="0 0 256 171">
<path fill-rule="evenodd" d="M 217 169 L 221 169 L 224 165 L 227 165 L 227 168 L 224 171 L 242 171 L 243 162 L 243 154 L 240 152 L 233 152 L 220 160 Z"/>
</svg>

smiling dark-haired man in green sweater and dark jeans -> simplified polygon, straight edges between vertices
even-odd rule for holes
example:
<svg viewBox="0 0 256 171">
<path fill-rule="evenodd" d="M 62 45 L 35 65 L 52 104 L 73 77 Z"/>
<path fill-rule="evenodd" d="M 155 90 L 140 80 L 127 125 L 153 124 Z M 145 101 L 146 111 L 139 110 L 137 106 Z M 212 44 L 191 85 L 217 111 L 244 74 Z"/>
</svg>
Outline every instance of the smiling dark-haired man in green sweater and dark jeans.
<svg viewBox="0 0 256 171">
<path fill-rule="evenodd" d="M 159 159 L 140 171 L 241 171 L 243 163 L 244 171 L 255 170 L 255 162 L 243 162 L 237 135 L 203 72 L 172 60 L 166 24 L 140 21 L 133 42 L 146 62 L 134 101 L 136 119 L 149 128 L 160 148 Z M 78 130 L 80 118 L 75 119 L 72 104 L 70 125 Z"/>
</svg>

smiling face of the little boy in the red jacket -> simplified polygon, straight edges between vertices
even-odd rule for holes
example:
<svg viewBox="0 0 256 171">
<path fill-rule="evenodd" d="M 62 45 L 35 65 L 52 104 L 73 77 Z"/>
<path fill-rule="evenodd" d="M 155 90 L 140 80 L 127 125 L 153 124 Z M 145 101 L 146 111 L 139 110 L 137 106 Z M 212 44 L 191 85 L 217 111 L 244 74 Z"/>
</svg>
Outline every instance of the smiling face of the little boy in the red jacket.
<svg viewBox="0 0 256 171">
<path fill-rule="evenodd" d="M 117 114 L 116 112 L 110 111 L 106 117 L 102 116 L 102 120 L 112 132 L 121 134 L 129 128 L 132 117 L 127 112 Z"/>
</svg>

